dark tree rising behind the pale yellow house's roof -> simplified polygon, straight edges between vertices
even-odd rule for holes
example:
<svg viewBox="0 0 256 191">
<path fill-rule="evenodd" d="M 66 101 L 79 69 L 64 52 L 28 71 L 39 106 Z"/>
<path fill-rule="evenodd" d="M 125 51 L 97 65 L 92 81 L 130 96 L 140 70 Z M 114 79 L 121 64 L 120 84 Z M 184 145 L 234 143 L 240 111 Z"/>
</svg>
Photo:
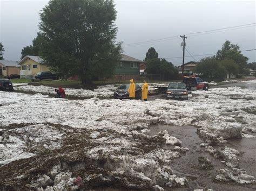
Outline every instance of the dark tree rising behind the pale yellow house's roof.
<svg viewBox="0 0 256 191">
<path fill-rule="evenodd" d="M 42 44 L 42 36 L 40 33 L 37 33 L 37 37 L 32 40 L 32 45 L 25 46 L 24 48 L 22 48 L 21 60 L 26 55 L 38 56 L 41 48 L 41 44 Z"/>
</svg>

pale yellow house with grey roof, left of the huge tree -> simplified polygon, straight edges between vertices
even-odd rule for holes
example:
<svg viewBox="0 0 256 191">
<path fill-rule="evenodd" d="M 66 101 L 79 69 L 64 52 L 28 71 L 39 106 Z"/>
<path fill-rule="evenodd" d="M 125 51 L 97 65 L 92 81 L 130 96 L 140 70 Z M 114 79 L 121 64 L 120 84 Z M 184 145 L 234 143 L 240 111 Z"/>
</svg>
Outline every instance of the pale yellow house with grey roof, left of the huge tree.
<svg viewBox="0 0 256 191">
<path fill-rule="evenodd" d="M 50 68 L 43 63 L 43 60 L 39 56 L 25 56 L 21 61 L 18 62 L 21 68 L 20 75 L 21 78 L 30 78 L 31 75 L 36 75 L 38 72 L 50 71 Z"/>
</svg>

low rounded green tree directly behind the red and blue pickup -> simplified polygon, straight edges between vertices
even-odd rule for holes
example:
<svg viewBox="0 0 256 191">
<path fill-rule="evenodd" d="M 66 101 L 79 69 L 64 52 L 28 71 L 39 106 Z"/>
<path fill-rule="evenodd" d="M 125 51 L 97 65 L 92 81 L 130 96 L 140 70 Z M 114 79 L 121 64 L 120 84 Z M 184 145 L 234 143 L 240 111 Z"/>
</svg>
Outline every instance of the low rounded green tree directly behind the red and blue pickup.
<svg viewBox="0 0 256 191">
<path fill-rule="evenodd" d="M 214 56 L 206 57 L 199 61 L 195 72 L 203 77 L 224 79 L 226 70 Z"/>
</svg>

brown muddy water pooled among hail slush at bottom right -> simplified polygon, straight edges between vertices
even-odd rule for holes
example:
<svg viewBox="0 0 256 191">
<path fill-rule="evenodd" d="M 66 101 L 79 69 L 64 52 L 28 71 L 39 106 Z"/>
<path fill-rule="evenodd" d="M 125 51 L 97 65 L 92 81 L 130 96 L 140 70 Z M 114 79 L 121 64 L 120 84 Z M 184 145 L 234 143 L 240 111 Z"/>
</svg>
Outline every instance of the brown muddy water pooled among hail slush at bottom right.
<svg viewBox="0 0 256 191">
<path fill-rule="evenodd" d="M 193 190 L 193 189 L 214 189 L 214 190 L 255 190 L 256 185 L 239 185 L 233 182 L 215 182 L 216 170 L 226 168 L 221 159 L 215 159 L 205 151 L 205 147 L 200 147 L 204 143 L 197 135 L 197 129 L 193 126 L 169 126 L 151 125 L 150 135 L 157 135 L 159 131 L 167 130 L 171 136 L 181 140 L 182 147 L 187 147 L 189 151 L 181 158 L 173 160 L 171 168 L 173 174 L 186 177 L 188 186 L 172 190 Z M 256 176 L 256 139 L 242 138 L 240 140 L 229 140 L 225 146 L 229 146 L 244 152 L 240 159 L 239 168 L 245 169 L 249 175 Z M 170 146 L 171 148 L 173 146 Z M 214 147 L 220 149 L 219 147 Z M 212 161 L 213 169 L 204 170 L 198 166 L 198 157 L 206 157 Z"/>
</svg>

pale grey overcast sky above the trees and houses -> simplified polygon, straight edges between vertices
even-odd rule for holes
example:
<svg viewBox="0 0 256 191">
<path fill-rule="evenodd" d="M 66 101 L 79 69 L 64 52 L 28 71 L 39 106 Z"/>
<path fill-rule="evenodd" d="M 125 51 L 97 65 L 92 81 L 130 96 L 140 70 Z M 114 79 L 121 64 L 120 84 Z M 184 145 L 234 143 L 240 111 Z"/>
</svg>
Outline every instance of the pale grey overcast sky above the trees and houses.
<svg viewBox="0 0 256 191">
<path fill-rule="evenodd" d="M 4 58 L 19 60 L 22 48 L 31 45 L 36 37 L 38 13 L 48 1 L 0 2 L 0 42 L 5 48 Z M 182 39 L 173 36 L 256 23 L 255 1 L 116 0 L 115 4 L 117 41 L 123 41 L 124 54 L 143 60 L 147 49 L 154 47 L 160 58 L 169 58 L 167 60 L 174 65 L 182 63 L 182 58 L 173 58 L 182 56 Z M 241 50 L 255 49 L 256 27 L 248 26 L 204 35 L 187 35 L 187 51 L 191 55 L 214 54 L 226 40 L 239 44 Z M 129 45 L 168 37 L 172 38 Z M 256 51 L 242 53 L 250 59 L 249 62 L 256 61 Z M 187 52 L 185 55 L 189 56 Z M 186 57 L 185 62 L 200 60 L 204 56 Z"/>
</svg>

